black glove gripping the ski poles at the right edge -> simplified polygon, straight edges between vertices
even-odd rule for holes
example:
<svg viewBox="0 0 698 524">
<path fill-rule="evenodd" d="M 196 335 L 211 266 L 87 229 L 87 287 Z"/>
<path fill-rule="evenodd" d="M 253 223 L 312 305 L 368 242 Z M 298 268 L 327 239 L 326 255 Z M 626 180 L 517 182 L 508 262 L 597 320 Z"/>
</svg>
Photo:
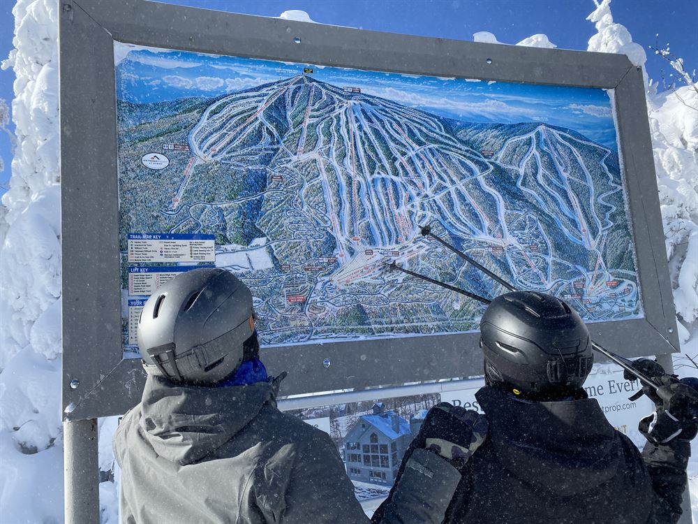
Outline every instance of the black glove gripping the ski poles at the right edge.
<svg viewBox="0 0 698 524">
<path fill-rule="evenodd" d="M 654 380 L 660 386 L 653 392 L 658 398 L 657 411 L 641 419 L 640 432 L 655 445 L 675 438 L 694 439 L 698 433 L 698 391 L 692 387 L 692 379 L 678 380 L 667 375 Z"/>
</svg>

